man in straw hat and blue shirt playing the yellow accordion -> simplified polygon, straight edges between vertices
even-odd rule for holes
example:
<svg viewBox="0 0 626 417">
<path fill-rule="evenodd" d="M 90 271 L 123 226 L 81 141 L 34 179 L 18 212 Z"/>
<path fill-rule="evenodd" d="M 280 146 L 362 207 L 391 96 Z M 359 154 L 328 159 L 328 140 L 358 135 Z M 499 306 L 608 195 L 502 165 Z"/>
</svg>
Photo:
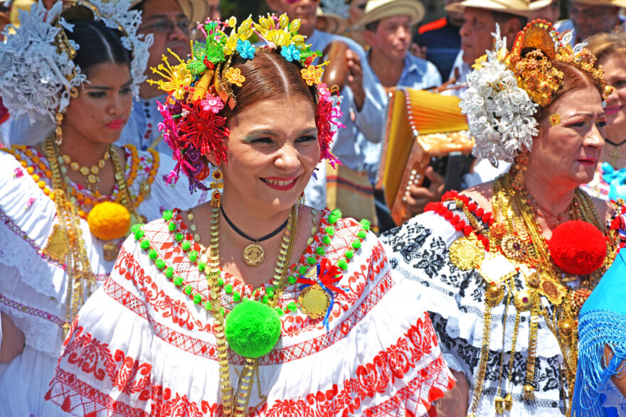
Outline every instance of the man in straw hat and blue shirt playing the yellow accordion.
<svg viewBox="0 0 626 417">
<path fill-rule="evenodd" d="M 418 0 L 369 0 L 365 15 L 357 23 L 364 27 L 364 38 L 370 46 L 368 63 L 376 77 L 378 90 L 387 104 L 387 95 L 398 86 L 425 90 L 441 85 L 441 75 L 433 63 L 409 53 L 411 29 L 424 17 L 424 6 Z M 362 141 L 357 146 L 364 154 L 364 161 L 372 183 L 376 182 L 381 162 L 381 143 Z M 443 178 L 432 168 L 427 170 L 430 188 L 416 190 L 416 198 L 425 201 L 439 200 Z M 381 230 L 393 227 L 382 193 L 376 196 L 376 209 Z M 428 201 L 427 201 L 428 200 Z M 425 203 L 424 203 L 425 204 Z M 417 209 L 419 210 L 419 208 Z M 388 217 L 388 222 L 385 219 Z M 386 224 L 387 223 L 387 224 Z"/>
</svg>

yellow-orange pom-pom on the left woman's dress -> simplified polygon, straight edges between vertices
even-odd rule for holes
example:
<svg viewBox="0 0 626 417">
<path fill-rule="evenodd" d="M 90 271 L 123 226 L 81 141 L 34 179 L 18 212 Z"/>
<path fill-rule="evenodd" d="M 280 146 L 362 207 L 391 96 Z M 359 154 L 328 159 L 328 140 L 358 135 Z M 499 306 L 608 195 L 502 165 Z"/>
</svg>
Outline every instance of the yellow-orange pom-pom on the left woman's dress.
<svg viewBox="0 0 626 417">
<path fill-rule="evenodd" d="M 126 207 L 117 202 L 105 201 L 92 208 L 87 223 L 98 239 L 119 239 L 128 232 L 130 213 Z"/>
</svg>

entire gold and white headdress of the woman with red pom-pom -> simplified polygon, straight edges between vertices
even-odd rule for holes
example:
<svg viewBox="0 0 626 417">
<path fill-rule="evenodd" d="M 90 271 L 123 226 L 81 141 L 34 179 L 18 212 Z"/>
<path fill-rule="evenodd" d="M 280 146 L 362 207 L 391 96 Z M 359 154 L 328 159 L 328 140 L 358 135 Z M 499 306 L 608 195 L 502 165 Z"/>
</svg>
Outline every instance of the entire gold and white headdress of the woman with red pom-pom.
<svg viewBox="0 0 626 417">
<path fill-rule="evenodd" d="M 571 47 L 571 32 L 560 36 L 551 23 L 532 21 L 518 33 L 511 52 L 499 26 L 493 35 L 494 49 L 476 60 L 467 75 L 470 88 L 460 107 L 476 139 L 474 156 L 487 158 L 494 166 L 498 160 L 512 162 L 517 153 L 530 151 L 539 134 L 533 114 L 539 106 L 548 106 L 563 84 L 563 72 L 552 62 L 587 72 L 604 101 L 612 91 L 590 50 L 580 43 Z"/>
</svg>

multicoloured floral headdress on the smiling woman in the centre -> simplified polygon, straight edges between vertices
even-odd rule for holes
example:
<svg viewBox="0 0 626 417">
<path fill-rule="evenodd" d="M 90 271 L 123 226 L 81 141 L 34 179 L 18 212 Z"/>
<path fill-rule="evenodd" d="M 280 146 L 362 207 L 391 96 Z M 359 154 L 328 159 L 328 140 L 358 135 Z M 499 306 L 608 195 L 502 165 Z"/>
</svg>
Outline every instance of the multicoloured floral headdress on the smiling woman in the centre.
<svg viewBox="0 0 626 417">
<path fill-rule="evenodd" d="M 312 51 L 304 43 L 304 36 L 298 35 L 299 20 L 290 22 L 287 15 L 261 17 L 258 23 L 247 18 L 237 27 L 235 18 L 228 21 L 207 21 L 198 28 L 206 36 L 205 42 L 193 44 L 187 60 L 171 66 L 164 57 L 164 64 L 152 68 L 164 80 L 153 81 L 161 90 L 168 93 L 166 101 L 159 103 L 159 111 L 164 117 L 159 129 L 164 141 L 174 151 L 178 161 L 169 175 L 169 180 L 178 180 L 180 170 L 189 177 L 189 190 L 207 190 L 201 181 L 210 172 L 206 153 L 213 153 L 218 163 L 226 162 L 226 143 L 230 132 L 226 127 L 226 117 L 222 109 L 233 109 L 237 97 L 232 86 L 241 87 L 245 77 L 239 68 L 231 67 L 233 57 L 239 55 L 244 60 L 253 60 L 260 50 L 276 50 L 283 58 L 302 65 L 302 78 L 307 85 L 315 85 L 317 111 L 316 122 L 322 159 L 333 165 L 338 162 L 330 151 L 334 129 L 341 127 L 339 103 L 331 99 L 331 92 L 322 83 L 323 66 L 313 65 L 313 60 L 322 54 Z M 229 31 L 227 34 L 226 31 Z M 257 33 L 265 40 L 265 45 L 250 43 L 250 37 Z"/>
</svg>

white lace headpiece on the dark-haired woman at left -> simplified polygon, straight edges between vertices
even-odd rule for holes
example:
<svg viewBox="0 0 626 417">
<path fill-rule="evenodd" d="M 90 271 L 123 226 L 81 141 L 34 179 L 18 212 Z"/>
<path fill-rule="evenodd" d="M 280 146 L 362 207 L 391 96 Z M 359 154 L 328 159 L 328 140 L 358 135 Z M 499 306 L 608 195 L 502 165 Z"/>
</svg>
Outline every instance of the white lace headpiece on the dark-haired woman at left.
<svg viewBox="0 0 626 417">
<path fill-rule="evenodd" d="M 75 4 L 93 11 L 95 20 L 101 20 L 107 27 L 122 31 L 122 45 L 132 53 L 132 92 L 137 96 L 139 84 L 146 79 L 148 48 L 152 45 L 152 35 L 137 35 L 141 12 L 129 10 L 130 3 L 126 0 L 117 3 L 78 0 Z M 60 32 L 73 29 L 73 25 L 59 16 L 62 9 L 63 1 L 55 2 L 48 11 L 40 0 L 30 11 L 19 12 L 19 28 L 5 28 L 6 41 L 0 43 L 0 94 L 4 105 L 15 117 L 28 114 L 31 124 L 36 114 L 44 114 L 54 122 L 56 114 L 64 113 L 68 107 L 70 92 L 78 91 L 86 80 L 67 50 L 78 50 L 80 45 L 73 40 L 68 40 L 68 45 L 59 45 Z"/>
</svg>

